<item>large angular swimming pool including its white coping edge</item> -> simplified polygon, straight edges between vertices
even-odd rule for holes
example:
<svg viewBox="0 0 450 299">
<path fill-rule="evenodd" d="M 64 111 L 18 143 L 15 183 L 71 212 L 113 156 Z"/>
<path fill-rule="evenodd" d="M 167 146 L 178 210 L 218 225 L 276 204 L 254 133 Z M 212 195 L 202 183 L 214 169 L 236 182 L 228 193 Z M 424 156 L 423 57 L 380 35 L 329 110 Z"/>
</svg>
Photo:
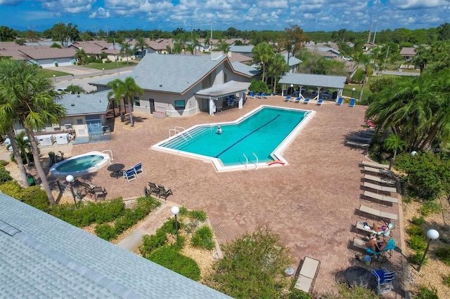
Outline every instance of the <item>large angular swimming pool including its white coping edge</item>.
<svg viewBox="0 0 450 299">
<path fill-rule="evenodd" d="M 314 113 L 262 105 L 236 121 L 193 126 L 151 148 L 211 161 L 217 171 L 281 166 L 288 164 L 283 151 Z"/>
</svg>

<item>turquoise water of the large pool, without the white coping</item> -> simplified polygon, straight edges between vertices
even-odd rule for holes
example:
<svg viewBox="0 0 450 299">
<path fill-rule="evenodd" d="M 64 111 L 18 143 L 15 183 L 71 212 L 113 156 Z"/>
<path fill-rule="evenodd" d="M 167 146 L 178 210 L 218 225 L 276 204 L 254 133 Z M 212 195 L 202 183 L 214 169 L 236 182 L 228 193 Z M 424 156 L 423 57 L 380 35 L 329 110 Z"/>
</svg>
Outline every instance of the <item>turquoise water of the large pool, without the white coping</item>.
<svg viewBox="0 0 450 299">
<path fill-rule="evenodd" d="M 246 164 L 244 155 L 249 163 L 256 163 L 257 159 L 259 163 L 274 161 L 274 150 L 306 114 L 305 110 L 262 107 L 237 124 L 219 124 L 220 135 L 218 124 L 197 126 L 160 146 L 217 158 L 224 166 Z"/>
</svg>

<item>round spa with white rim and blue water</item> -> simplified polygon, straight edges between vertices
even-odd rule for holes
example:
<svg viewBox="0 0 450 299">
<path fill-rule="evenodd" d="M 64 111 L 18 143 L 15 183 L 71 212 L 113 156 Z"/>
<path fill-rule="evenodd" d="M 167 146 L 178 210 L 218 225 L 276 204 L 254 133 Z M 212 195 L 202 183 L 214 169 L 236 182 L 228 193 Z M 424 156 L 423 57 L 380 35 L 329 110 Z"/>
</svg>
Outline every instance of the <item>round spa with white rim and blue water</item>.
<svg viewBox="0 0 450 299">
<path fill-rule="evenodd" d="M 51 166 L 50 173 L 59 178 L 65 178 L 67 175 L 73 175 L 75 178 L 80 175 L 97 171 L 110 161 L 110 155 L 104 152 L 87 152 L 79 154 L 67 160 L 60 161 Z"/>
</svg>

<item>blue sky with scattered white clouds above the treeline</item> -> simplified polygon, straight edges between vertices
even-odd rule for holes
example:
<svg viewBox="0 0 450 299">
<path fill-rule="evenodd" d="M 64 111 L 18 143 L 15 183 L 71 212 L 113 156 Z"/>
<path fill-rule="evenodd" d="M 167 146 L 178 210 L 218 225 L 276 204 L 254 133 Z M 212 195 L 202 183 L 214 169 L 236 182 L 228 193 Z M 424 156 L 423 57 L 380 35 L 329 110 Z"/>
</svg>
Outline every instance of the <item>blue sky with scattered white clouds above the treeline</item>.
<svg viewBox="0 0 450 299">
<path fill-rule="evenodd" d="M 450 22 L 450 0 L 0 0 L 0 26 L 43 31 L 57 22 L 82 32 L 120 29 L 420 29 Z"/>
</svg>

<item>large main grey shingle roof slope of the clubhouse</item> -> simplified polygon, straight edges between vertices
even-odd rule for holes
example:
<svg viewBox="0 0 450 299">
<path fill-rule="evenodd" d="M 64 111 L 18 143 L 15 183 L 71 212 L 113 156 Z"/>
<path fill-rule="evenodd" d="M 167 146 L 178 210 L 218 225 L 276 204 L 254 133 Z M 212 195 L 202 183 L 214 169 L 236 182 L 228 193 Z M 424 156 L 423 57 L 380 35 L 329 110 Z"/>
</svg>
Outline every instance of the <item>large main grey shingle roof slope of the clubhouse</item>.
<svg viewBox="0 0 450 299">
<path fill-rule="evenodd" d="M 169 55 L 152 53 L 145 55 L 131 77 L 147 91 L 184 93 L 206 74 L 226 60 L 226 55 L 211 59 L 210 55 Z M 105 85 L 111 79 L 92 83 Z"/>
</svg>

